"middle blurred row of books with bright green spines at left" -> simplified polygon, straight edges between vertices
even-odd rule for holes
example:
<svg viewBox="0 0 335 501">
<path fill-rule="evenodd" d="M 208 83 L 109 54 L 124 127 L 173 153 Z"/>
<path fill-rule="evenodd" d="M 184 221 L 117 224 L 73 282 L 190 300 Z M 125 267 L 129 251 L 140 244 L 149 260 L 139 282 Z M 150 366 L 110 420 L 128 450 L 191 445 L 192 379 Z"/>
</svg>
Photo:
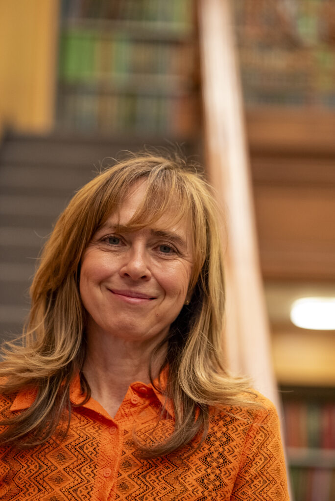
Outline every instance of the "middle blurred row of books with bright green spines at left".
<svg viewBox="0 0 335 501">
<path fill-rule="evenodd" d="M 73 28 L 60 38 L 59 78 L 80 82 L 112 80 L 115 74 L 190 75 L 192 44 L 135 42 L 124 34 Z"/>
</svg>

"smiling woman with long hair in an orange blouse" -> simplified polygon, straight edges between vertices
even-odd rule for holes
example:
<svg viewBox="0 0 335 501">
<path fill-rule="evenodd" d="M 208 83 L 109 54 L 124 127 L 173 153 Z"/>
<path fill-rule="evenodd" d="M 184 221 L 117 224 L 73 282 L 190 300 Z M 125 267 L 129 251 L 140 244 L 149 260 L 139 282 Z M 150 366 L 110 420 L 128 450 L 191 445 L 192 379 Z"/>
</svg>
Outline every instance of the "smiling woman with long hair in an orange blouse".
<svg viewBox="0 0 335 501">
<path fill-rule="evenodd" d="M 273 405 L 222 365 L 217 208 L 185 162 L 133 155 L 46 243 L 1 365 L 0 499 L 286 500 Z"/>
</svg>

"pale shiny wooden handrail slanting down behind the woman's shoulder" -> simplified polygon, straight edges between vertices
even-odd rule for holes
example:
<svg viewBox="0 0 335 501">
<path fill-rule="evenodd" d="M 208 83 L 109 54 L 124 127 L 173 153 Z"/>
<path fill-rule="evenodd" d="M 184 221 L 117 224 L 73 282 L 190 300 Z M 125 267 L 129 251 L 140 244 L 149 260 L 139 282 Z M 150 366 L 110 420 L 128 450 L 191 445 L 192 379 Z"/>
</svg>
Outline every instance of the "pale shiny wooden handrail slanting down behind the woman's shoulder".
<svg viewBox="0 0 335 501">
<path fill-rule="evenodd" d="M 231 19 L 228 0 L 199 0 L 207 169 L 228 230 L 225 344 L 230 368 L 250 376 L 280 411 Z"/>
</svg>

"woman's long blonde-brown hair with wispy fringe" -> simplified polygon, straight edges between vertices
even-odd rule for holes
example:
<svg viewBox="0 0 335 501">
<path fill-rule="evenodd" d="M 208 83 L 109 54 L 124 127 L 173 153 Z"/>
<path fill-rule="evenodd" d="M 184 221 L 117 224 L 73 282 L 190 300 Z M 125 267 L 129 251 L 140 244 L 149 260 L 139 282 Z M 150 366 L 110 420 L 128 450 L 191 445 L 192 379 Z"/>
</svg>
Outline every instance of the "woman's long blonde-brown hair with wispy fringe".
<svg viewBox="0 0 335 501">
<path fill-rule="evenodd" d="M 166 358 L 168 383 L 162 392 L 173 402 L 175 429 L 163 442 L 140 442 L 142 455 L 166 454 L 205 438 L 211 406 L 248 405 L 248 380 L 232 377 L 222 353 L 224 271 L 222 231 L 210 186 L 179 157 L 148 153 L 105 169 L 82 187 L 60 215 L 41 254 L 31 286 L 32 306 L 20 346 L 7 343 L 0 364 L 2 393 L 36 388 L 34 404 L 3 424 L 2 444 L 28 447 L 70 422 L 70 383 L 85 359 L 85 310 L 79 295 L 80 261 L 94 233 L 117 211 L 129 188 L 146 179 L 143 203 L 129 221 L 134 229 L 157 221 L 167 210 L 176 221 L 187 217 L 193 238 L 191 302 L 172 324 Z M 159 350 L 155 348 L 152 357 Z M 150 378 L 151 370 L 150 370 Z M 89 385 L 82 375 L 86 401 Z M 163 413 L 162 413 L 163 415 Z M 66 417 L 65 417 L 66 416 Z M 162 416 L 161 416 L 162 418 Z"/>
</svg>

